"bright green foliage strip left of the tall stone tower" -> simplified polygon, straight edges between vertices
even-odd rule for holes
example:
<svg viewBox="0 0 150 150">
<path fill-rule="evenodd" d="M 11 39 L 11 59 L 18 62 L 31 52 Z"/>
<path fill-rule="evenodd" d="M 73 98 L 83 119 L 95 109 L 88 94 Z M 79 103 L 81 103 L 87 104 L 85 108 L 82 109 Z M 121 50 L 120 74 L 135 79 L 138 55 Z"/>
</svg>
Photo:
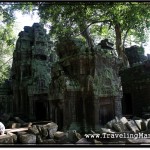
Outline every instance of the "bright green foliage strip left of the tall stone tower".
<svg viewBox="0 0 150 150">
<path fill-rule="evenodd" d="M 13 33 L 14 17 L 9 5 L 0 3 L 0 83 L 9 78 L 10 62 L 14 50 L 15 35 Z M 11 59 L 10 59 L 11 61 Z"/>
</svg>

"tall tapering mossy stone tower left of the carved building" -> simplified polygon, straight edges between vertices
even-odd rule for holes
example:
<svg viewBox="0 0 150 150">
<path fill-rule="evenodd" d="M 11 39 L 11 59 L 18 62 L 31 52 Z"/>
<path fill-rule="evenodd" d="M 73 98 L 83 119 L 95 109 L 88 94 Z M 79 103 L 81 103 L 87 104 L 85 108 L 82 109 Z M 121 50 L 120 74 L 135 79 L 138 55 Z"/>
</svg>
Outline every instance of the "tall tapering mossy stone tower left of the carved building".
<svg viewBox="0 0 150 150">
<path fill-rule="evenodd" d="M 13 53 L 14 114 L 36 120 L 48 119 L 45 102 L 50 83 L 48 54 L 48 38 L 43 26 L 38 23 L 25 26 Z"/>
</svg>

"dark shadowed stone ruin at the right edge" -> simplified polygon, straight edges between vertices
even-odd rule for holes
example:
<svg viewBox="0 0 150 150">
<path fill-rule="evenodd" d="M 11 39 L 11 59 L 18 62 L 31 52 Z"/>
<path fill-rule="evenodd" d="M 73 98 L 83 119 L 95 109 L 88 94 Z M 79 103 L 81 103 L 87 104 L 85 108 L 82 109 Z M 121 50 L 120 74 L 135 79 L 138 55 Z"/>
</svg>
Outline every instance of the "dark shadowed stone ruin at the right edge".
<svg viewBox="0 0 150 150">
<path fill-rule="evenodd" d="M 138 53 L 138 46 L 126 49 L 130 68 L 120 71 L 123 87 L 122 111 L 126 116 L 150 116 L 150 55 Z"/>
</svg>

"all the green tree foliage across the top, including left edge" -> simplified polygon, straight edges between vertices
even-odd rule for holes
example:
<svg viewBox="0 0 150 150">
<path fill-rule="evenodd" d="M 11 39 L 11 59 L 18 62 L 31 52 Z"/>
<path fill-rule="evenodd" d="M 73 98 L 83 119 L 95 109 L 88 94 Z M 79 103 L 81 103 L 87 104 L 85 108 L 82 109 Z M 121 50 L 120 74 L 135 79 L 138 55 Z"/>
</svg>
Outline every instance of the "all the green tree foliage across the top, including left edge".
<svg viewBox="0 0 150 150">
<path fill-rule="evenodd" d="M 146 42 L 150 27 L 150 5 L 147 2 L 1 2 L 0 56 L 12 53 L 16 10 L 28 14 L 38 11 L 41 22 L 50 27 L 50 37 L 55 40 L 60 35 L 79 37 L 87 42 L 88 39 L 99 42 L 108 38 L 116 40 L 116 44 L 120 40 L 119 46 L 123 47 L 132 35 L 132 41 L 140 45 Z M 116 25 L 119 25 L 120 39 L 116 36 Z M 80 42 L 76 44 L 82 45 Z"/>
</svg>

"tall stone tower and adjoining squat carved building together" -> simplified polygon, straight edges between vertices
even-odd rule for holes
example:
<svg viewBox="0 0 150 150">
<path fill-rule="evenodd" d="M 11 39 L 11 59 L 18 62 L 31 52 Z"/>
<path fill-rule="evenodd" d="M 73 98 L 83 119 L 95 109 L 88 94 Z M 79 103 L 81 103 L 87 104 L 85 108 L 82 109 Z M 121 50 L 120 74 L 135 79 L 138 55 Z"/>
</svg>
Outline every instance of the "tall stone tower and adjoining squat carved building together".
<svg viewBox="0 0 150 150">
<path fill-rule="evenodd" d="M 53 51 L 41 24 L 25 26 L 13 53 L 9 111 L 81 131 L 121 116 L 118 59 L 103 42 L 92 51 L 79 39 L 62 37 Z"/>
</svg>

